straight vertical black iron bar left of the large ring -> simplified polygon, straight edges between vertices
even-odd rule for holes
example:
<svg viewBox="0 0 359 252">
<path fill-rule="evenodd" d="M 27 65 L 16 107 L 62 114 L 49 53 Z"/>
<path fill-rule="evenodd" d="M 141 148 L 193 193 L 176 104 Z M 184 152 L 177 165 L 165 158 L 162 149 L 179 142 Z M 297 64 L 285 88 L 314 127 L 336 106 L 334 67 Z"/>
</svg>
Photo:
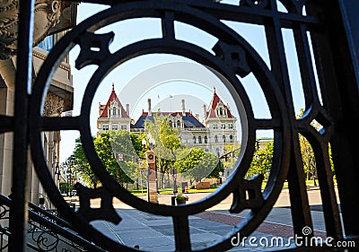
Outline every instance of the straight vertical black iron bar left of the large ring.
<svg viewBox="0 0 359 252">
<path fill-rule="evenodd" d="M 9 251 L 25 251 L 28 168 L 28 88 L 31 86 L 31 59 L 34 0 L 19 1 L 19 25 L 17 59 L 14 91 L 14 130 L 13 130 L 13 202 L 9 213 Z"/>
</svg>

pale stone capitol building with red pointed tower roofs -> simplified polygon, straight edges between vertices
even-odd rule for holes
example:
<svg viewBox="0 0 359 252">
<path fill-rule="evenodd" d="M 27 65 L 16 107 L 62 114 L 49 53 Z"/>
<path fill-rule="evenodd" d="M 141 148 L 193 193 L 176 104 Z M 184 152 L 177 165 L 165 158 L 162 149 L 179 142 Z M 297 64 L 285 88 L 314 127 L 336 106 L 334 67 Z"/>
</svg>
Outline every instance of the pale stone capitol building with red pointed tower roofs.
<svg viewBox="0 0 359 252">
<path fill-rule="evenodd" d="M 143 109 L 138 118 L 129 117 L 129 104 L 124 107 L 118 99 L 114 84 L 109 93 L 109 100 L 99 104 L 97 119 L 98 134 L 109 130 L 127 130 L 129 132 L 144 132 L 144 122 L 152 117 L 166 117 L 168 124 L 179 129 L 180 141 L 188 148 L 195 147 L 215 155 L 224 154 L 224 146 L 237 143 L 237 118 L 234 117 L 228 105 L 219 98 L 215 89 L 208 108 L 203 105 L 203 119 L 193 115 L 186 109 L 186 100 L 180 101 L 180 111 L 153 111 L 151 99 L 147 100 L 147 109 Z"/>
</svg>

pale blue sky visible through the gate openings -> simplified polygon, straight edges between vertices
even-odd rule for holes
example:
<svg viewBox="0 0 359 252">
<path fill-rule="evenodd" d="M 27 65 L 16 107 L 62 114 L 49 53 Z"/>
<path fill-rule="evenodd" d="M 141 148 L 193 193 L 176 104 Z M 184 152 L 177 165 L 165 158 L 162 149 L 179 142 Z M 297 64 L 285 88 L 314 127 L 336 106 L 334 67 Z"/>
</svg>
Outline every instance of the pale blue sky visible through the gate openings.
<svg viewBox="0 0 359 252">
<path fill-rule="evenodd" d="M 223 3 L 237 3 L 238 1 L 223 1 Z M 82 22 L 93 13 L 100 12 L 107 6 L 96 4 L 79 4 L 77 22 Z M 248 40 L 253 48 L 256 49 L 258 55 L 269 64 L 269 56 L 267 52 L 267 43 L 265 39 L 264 29 L 257 25 L 238 24 L 235 22 L 225 22 L 233 30 L 236 30 L 244 39 Z M 202 48 L 211 50 L 215 45 L 217 39 L 208 33 L 198 30 L 197 28 L 188 26 L 187 24 L 175 22 L 176 39 L 184 39 Z M 126 45 L 134 43 L 141 39 L 161 38 L 161 21 L 158 19 L 142 19 L 134 21 L 119 22 L 114 25 L 102 28 L 97 33 L 105 33 L 109 30 L 114 30 L 115 38 L 109 47 L 111 52 L 118 50 Z M 298 60 L 295 56 L 295 48 L 293 43 L 293 35 L 290 30 L 283 30 L 285 36 L 285 52 L 288 60 L 290 79 L 293 89 L 294 109 L 298 113 L 299 109 L 303 108 L 303 95 L 301 77 L 299 74 Z M 85 84 L 89 81 L 92 73 L 96 70 L 96 66 L 90 65 L 83 69 L 76 70 L 74 68 L 74 60 L 79 53 L 79 47 L 75 47 L 70 52 L 70 64 L 72 65 L 73 85 L 74 85 L 74 115 L 78 115 L 81 102 L 83 98 L 83 91 Z M 178 74 L 180 71 L 177 67 L 171 71 L 166 71 L 168 74 L 166 80 L 160 77 L 161 74 L 153 74 L 154 78 L 152 85 L 145 86 L 150 83 L 148 77 L 145 77 L 146 71 L 148 73 L 160 73 L 160 70 L 165 69 L 168 65 L 184 65 L 183 73 L 188 73 L 188 67 L 197 69 L 195 73 L 187 77 Z M 130 104 L 131 117 L 136 120 L 140 115 L 142 109 L 146 111 L 146 100 L 151 98 L 153 108 L 161 108 L 162 110 L 180 110 L 181 97 L 186 98 L 186 109 L 191 109 L 193 114 L 202 115 L 202 105 L 208 105 L 213 89 L 215 87 L 218 95 L 225 103 L 228 103 L 232 109 L 232 113 L 238 116 L 236 111 L 235 102 L 232 100 L 231 93 L 225 88 L 223 83 L 215 80 L 214 75 L 206 69 L 200 69 L 201 65 L 188 60 L 181 56 L 172 55 L 149 55 L 139 56 L 134 59 L 128 60 L 122 65 L 119 65 L 112 71 L 101 83 L 96 95 L 92 101 L 92 135 L 96 134 L 96 119 L 98 117 L 99 102 L 105 103 L 111 91 L 112 83 L 115 83 L 115 90 L 118 93 L 119 100 L 125 106 L 126 103 Z M 202 67 L 204 68 L 204 67 Z M 151 72 L 152 71 L 152 72 Z M 157 71 L 157 72 L 156 72 Z M 177 73 L 177 74 L 176 74 Z M 173 74 L 171 76 L 171 74 Z M 253 111 L 255 117 L 270 117 L 269 110 L 267 109 L 266 100 L 264 99 L 263 92 L 260 90 L 257 80 L 252 74 L 241 79 L 245 90 L 247 91 L 250 101 L 253 103 Z M 173 98 L 170 98 L 170 97 Z M 198 106 L 194 107 L 193 104 Z M 74 139 L 79 136 L 78 132 L 62 131 L 62 148 L 60 152 L 60 161 L 65 161 L 66 158 L 74 151 Z M 270 132 L 259 132 L 258 136 L 270 136 Z M 66 147 L 65 147 L 66 146 Z M 65 148 L 64 148 L 65 147 Z"/>
</svg>

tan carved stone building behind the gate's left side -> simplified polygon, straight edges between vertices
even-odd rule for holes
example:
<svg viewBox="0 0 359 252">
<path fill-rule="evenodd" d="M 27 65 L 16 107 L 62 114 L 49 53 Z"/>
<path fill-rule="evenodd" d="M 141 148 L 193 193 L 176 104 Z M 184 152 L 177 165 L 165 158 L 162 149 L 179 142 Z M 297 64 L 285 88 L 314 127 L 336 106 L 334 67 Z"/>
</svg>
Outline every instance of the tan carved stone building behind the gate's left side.
<svg viewBox="0 0 359 252">
<path fill-rule="evenodd" d="M 16 73 L 16 41 L 18 38 L 18 1 L 0 3 L 0 115 L 13 116 L 14 89 Z M 34 12 L 34 33 L 32 48 L 32 76 L 39 73 L 40 66 L 48 56 L 48 51 L 61 39 L 66 30 L 75 23 L 76 6 L 66 1 L 37 0 Z M 71 67 L 68 57 L 59 65 L 54 74 L 44 102 L 44 117 L 60 117 L 65 111 L 73 109 Z M 56 166 L 59 160 L 60 132 L 43 132 L 43 151 L 48 161 L 48 169 L 59 183 Z M 12 188 L 13 134 L 0 134 L 0 188 L 1 194 L 9 196 Z M 29 162 L 31 159 L 29 158 Z M 34 204 L 51 208 L 43 192 L 34 169 L 28 169 L 30 200 Z M 40 200 L 43 199 L 43 200 Z"/>
</svg>

